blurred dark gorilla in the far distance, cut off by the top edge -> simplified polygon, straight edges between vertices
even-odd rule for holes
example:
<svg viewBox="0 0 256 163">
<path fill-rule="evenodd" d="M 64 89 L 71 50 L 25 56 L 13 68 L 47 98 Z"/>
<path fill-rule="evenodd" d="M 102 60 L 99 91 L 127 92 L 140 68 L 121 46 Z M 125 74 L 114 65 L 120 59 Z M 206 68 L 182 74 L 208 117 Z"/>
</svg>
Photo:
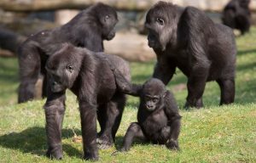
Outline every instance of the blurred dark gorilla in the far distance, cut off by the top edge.
<svg viewBox="0 0 256 163">
<path fill-rule="evenodd" d="M 240 30 L 241 35 L 249 31 L 251 25 L 249 3 L 250 0 L 231 0 L 224 8 L 222 17 L 224 25 Z"/>
</svg>

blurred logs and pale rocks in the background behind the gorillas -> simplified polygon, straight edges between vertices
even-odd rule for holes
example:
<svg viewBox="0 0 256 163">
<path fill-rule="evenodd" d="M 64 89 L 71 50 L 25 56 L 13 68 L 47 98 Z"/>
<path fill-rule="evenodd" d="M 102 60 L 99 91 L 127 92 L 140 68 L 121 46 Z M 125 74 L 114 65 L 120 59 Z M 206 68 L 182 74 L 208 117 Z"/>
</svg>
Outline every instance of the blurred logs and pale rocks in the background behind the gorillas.
<svg viewBox="0 0 256 163">
<path fill-rule="evenodd" d="M 44 29 L 51 29 L 67 23 L 79 10 L 91 4 L 102 2 L 118 10 L 119 23 L 117 36 L 106 42 L 106 52 L 118 54 L 132 61 L 148 61 L 154 59 L 153 51 L 148 48 L 143 23 L 145 14 L 157 0 L 0 0 L 0 29 L 7 29 L 22 37 Z M 204 10 L 215 22 L 221 22 L 224 6 L 229 0 L 169 0 L 179 6 L 195 6 Z M 256 0 L 252 0 L 252 23 L 256 20 Z M 0 39 L 3 39 L 0 35 Z M 134 42 L 133 40 L 137 40 Z M 20 40 L 19 40 L 20 41 Z M 19 42 L 18 41 L 18 42 Z M 2 43 L 3 44 L 3 43 Z M 15 48 L 0 44 L 0 56 L 15 56 Z M 7 51 L 6 51 L 7 50 Z"/>
</svg>

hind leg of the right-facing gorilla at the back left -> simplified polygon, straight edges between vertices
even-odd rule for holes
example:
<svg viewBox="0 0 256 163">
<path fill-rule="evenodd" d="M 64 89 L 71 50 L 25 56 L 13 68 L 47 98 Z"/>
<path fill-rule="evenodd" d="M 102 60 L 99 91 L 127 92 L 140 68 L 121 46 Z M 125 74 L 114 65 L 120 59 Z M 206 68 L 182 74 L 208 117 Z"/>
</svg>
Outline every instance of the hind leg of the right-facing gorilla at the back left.
<svg viewBox="0 0 256 163">
<path fill-rule="evenodd" d="M 24 103 L 35 96 L 35 85 L 40 75 L 40 55 L 35 45 L 28 42 L 19 49 L 20 87 L 18 103 Z"/>
</svg>

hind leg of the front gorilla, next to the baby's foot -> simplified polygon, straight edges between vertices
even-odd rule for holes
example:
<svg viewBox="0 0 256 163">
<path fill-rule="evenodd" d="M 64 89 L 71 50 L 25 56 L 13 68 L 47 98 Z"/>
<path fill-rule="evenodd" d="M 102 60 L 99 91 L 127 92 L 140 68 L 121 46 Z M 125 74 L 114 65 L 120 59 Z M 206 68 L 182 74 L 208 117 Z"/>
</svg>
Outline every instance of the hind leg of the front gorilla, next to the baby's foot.
<svg viewBox="0 0 256 163">
<path fill-rule="evenodd" d="M 98 121 L 100 124 L 102 123 L 101 127 L 103 129 L 99 134 L 99 138 L 97 138 L 97 143 L 99 144 L 100 149 L 107 149 L 113 144 L 124 108 L 125 94 L 116 93 L 113 99 L 107 104 L 107 108 L 104 109 L 107 112 L 102 112 L 103 114 L 106 114 L 105 118 L 101 117 L 102 115 L 98 117 Z"/>
</svg>

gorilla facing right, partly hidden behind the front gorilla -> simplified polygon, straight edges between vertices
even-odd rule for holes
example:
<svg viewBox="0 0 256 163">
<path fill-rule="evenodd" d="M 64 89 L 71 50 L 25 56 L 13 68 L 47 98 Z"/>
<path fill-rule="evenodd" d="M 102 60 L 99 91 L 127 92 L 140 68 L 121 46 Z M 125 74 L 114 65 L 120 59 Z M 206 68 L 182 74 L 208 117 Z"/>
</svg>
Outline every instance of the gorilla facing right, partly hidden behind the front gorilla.
<svg viewBox="0 0 256 163">
<path fill-rule="evenodd" d="M 19 53 L 20 88 L 18 103 L 35 98 L 35 84 L 44 76 L 43 96 L 47 94 L 45 63 L 49 55 L 69 42 L 76 47 L 88 48 L 94 52 L 103 51 L 103 40 L 114 37 L 113 30 L 118 19 L 115 10 L 103 3 L 96 3 L 84 9 L 66 25 L 53 30 L 40 31 L 22 43 Z"/>
</svg>

